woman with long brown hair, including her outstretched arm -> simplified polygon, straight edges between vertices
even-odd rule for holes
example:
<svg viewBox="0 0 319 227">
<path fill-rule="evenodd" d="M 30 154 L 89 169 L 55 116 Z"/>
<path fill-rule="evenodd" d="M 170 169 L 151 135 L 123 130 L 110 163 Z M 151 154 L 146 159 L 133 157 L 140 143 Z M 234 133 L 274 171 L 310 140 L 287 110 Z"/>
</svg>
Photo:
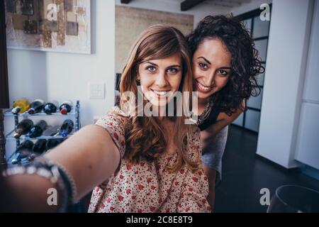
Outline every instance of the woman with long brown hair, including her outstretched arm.
<svg viewBox="0 0 319 227">
<path fill-rule="evenodd" d="M 114 107 L 95 126 L 82 128 L 45 160 L 6 171 L 6 185 L 16 186 L 11 196 L 21 197 L 17 186 L 22 184 L 36 206 L 21 201 L 21 207 L 33 211 L 54 209 L 45 204 L 46 189 L 53 186 L 60 192 L 60 204 L 67 198 L 77 201 L 94 189 L 89 212 L 210 211 L 200 131 L 186 123 L 191 119 L 184 111 L 179 116 L 179 109 L 174 109 L 173 116 L 166 116 L 169 104 L 186 104 L 174 94 L 191 91 L 184 35 L 167 26 L 147 28 L 123 70 L 121 108 Z M 142 111 L 150 106 L 152 116 L 141 115 L 140 106 Z M 47 174 L 40 175 L 39 169 Z"/>
</svg>

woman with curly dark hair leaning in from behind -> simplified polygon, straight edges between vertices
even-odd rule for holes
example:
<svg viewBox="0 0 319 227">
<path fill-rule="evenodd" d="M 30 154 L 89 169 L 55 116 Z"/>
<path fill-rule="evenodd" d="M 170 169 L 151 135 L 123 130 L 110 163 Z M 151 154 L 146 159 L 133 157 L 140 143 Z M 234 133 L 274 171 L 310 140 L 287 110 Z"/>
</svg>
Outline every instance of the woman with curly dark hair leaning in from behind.
<svg viewBox="0 0 319 227">
<path fill-rule="evenodd" d="M 206 16 L 187 35 L 198 92 L 203 164 L 213 207 L 220 182 L 221 159 L 228 126 L 246 110 L 246 100 L 259 93 L 256 76 L 264 68 L 250 33 L 233 16 Z"/>
</svg>

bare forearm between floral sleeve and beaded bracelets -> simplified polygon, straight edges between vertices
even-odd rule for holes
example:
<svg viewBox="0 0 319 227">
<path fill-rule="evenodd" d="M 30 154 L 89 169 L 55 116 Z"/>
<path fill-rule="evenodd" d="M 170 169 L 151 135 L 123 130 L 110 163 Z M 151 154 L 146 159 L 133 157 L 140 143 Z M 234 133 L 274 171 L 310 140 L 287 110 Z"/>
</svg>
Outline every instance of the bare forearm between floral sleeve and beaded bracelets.
<svg viewBox="0 0 319 227">
<path fill-rule="evenodd" d="M 63 165 L 74 177 L 76 199 L 110 177 L 121 158 L 111 136 L 101 126 L 82 128 L 45 157 Z"/>
</svg>

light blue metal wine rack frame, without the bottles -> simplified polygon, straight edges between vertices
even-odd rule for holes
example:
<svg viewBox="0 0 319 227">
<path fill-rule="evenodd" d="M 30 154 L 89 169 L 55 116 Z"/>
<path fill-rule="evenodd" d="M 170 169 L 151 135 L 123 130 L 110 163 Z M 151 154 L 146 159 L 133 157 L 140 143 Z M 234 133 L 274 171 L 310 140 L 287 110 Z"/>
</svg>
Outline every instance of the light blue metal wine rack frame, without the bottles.
<svg viewBox="0 0 319 227">
<path fill-rule="evenodd" d="M 72 133 L 67 135 L 67 137 L 62 137 L 62 135 L 55 135 L 55 136 L 49 136 L 49 135 L 41 135 L 35 138 L 30 138 L 28 135 L 22 135 L 20 138 L 14 138 L 13 134 L 15 133 L 15 129 L 18 126 L 19 123 L 19 117 L 23 118 L 32 118 L 33 116 L 43 116 L 45 118 L 47 117 L 57 117 L 57 116 L 69 116 L 74 118 L 74 128 Z M 80 128 L 80 122 L 79 122 L 79 101 L 77 101 L 77 104 L 74 106 L 72 111 L 70 111 L 67 114 L 61 114 L 60 112 L 52 113 L 52 114 L 45 114 L 43 111 L 37 114 L 28 114 L 28 113 L 23 113 L 23 114 L 12 114 L 11 109 L 8 111 L 4 112 L 4 117 L 11 117 L 14 118 L 14 126 L 15 128 L 9 132 L 8 134 L 5 135 L 6 140 L 16 140 L 16 148 L 18 148 L 18 145 L 20 145 L 21 140 L 40 140 L 40 139 L 65 139 L 68 138 L 69 136 L 73 135 L 76 131 L 79 131 Z M 7 164 L 11 164 L 11 161 L 17 156 L 16 152 L 13 152 L 9 158 L 6 160 Z M 28 162 L 28 160 L 23 160 L 21 161 L 21 164 L 24 164 Z"/>
</svg>

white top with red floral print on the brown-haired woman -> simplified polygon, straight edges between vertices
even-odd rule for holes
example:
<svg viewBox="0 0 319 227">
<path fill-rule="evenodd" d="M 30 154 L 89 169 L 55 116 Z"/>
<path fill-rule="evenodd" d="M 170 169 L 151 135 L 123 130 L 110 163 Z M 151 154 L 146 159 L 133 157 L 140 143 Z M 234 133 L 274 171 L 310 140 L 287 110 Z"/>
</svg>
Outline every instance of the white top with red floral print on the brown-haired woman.
<svg viewBox="0 0 319 227">
<path fill-rule="evenodd" d="M 96 122 L 106 128 L 118 147 L 125 153 L 125 133 L 130 119 L 118 107 Z M 200 131 L 194 126 L 187 156 L 194 160 L 201 155 Z M 206 200 L 208 181 L 203 169 L 192 173 L 187 165 L 170 173 L 167 165 L 177 161 L 177 153 L 166 154 L 154 162 L 146 160 L 133 165 L 122 159 L 116 173 L 96 187 L 91 196 L 89 212 L 209 212 Z"/>
</svg>

